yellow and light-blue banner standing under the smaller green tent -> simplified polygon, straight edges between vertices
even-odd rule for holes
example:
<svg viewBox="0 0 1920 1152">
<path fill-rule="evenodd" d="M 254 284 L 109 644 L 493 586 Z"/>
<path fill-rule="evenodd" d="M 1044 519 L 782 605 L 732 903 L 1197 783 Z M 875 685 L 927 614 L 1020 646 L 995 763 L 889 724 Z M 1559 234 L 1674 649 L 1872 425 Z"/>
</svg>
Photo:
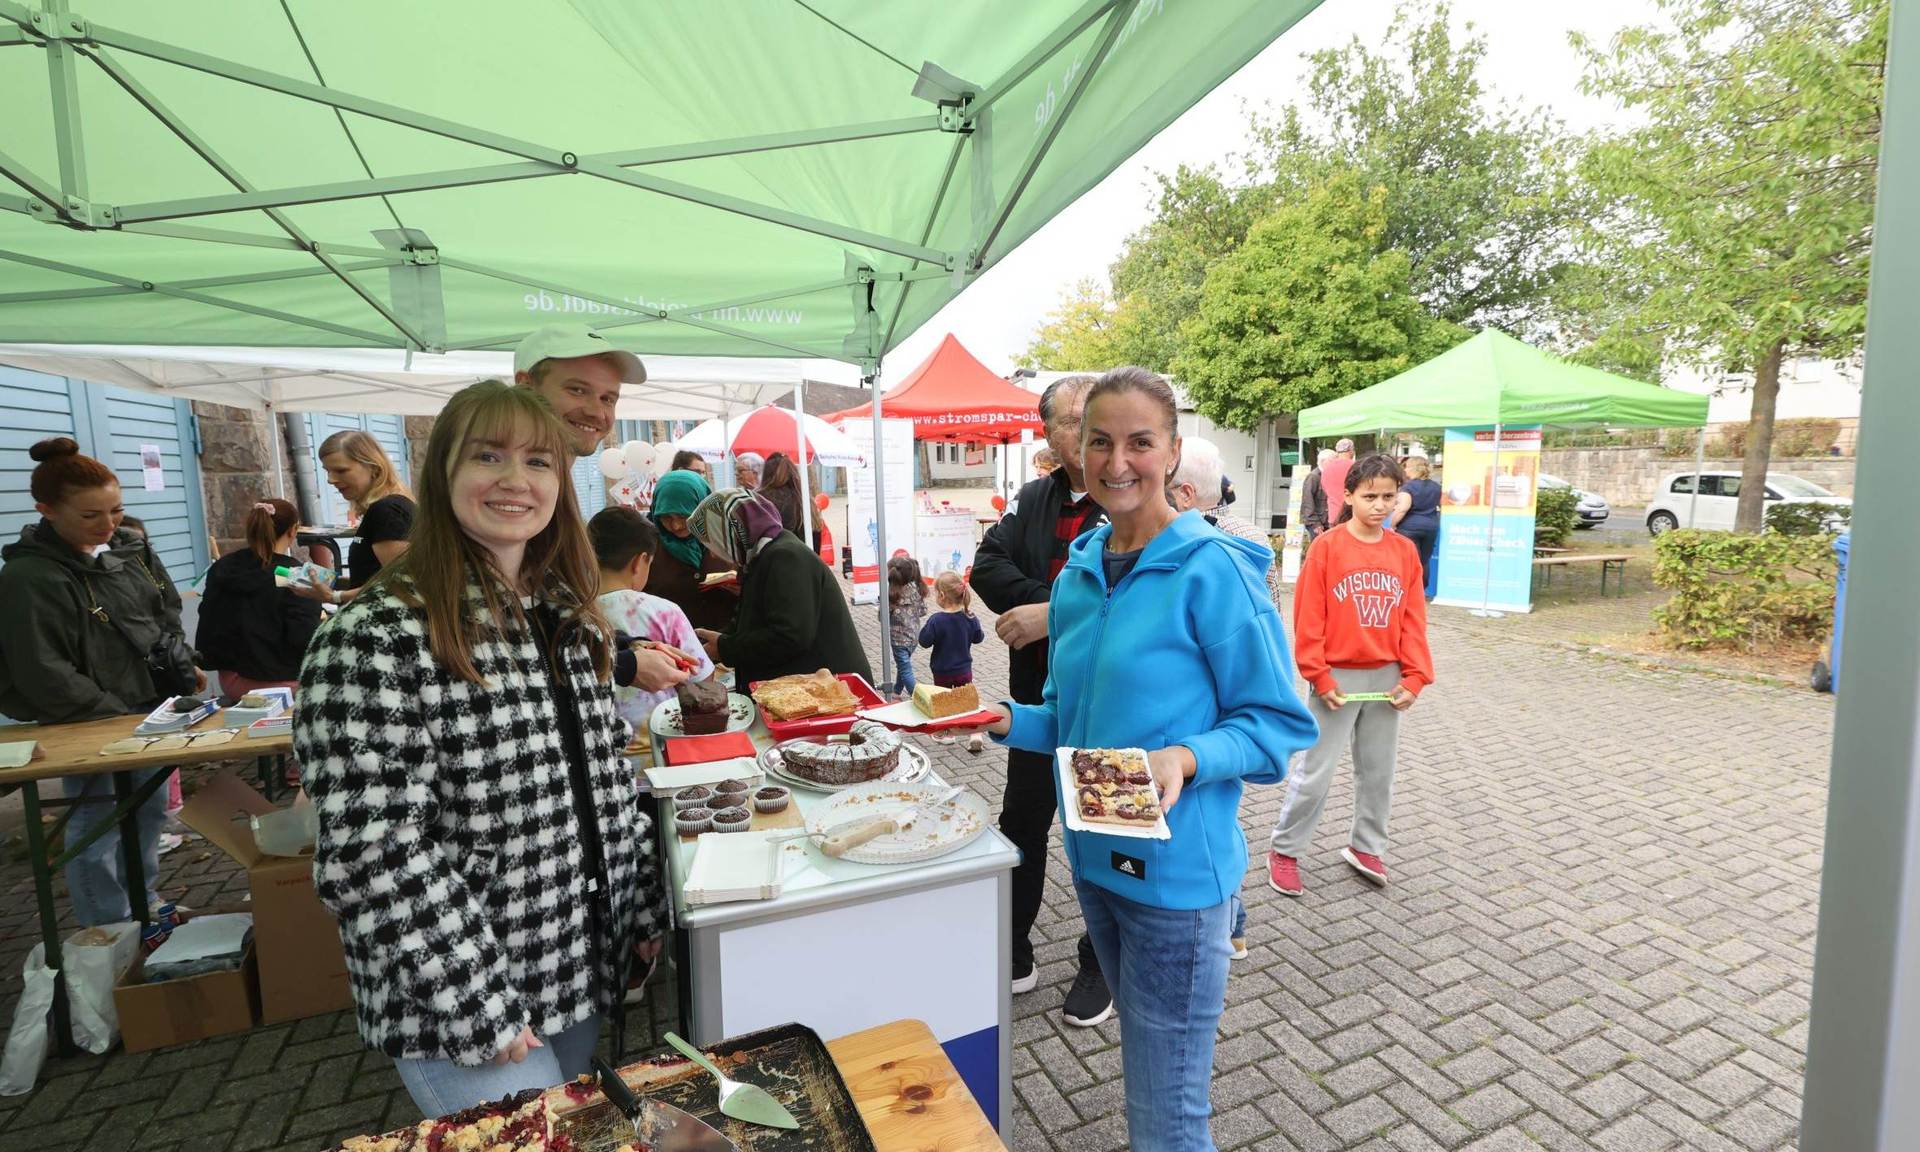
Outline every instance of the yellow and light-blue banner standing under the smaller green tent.
<svg viewBox="0 0 1920 1152">
<path fill-rule="evenodd" d="M 1538 426 L 1446 430 L 1436 605 L 1532 611 L 1538 476 Z"/>
</svg>

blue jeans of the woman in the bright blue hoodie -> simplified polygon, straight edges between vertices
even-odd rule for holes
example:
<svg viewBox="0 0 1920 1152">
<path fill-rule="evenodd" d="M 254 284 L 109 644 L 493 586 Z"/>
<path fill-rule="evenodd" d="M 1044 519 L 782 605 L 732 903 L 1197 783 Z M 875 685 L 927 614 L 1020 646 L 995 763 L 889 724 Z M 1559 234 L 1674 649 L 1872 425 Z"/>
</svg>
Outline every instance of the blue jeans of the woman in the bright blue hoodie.
<svg viewBox="0 0 1920 1152">
<path fill-rule="evenodd" d="M 1075 883 L 1119 1014 L 1127 1140 L 1140 1152 L 1212 1152 L 1213 1031 L 1227 1006 L 1231 900 L 1150 908 Z"/>
</svg>

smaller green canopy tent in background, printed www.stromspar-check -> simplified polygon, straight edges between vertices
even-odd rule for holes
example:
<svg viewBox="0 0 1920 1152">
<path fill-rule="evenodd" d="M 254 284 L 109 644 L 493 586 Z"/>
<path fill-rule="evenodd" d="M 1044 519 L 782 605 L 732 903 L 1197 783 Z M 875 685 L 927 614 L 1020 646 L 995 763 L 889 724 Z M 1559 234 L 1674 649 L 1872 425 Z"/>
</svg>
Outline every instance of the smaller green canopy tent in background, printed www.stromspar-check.
<svg viewBox="0 0 1920 1152">
<path fill-rule="evenodd" d="M 1705 396 L 1574 365 L 1505 332 L 1486 328 L 1373 388 L 1304 409 L 1300 413 L 1300 438 L 1325 440 L 1365 432 L 1492 424 L 1494 470 L 1498 472 L 1500 442 L 1507 424 L 1661 428 L 1705 422 Z M 1701 436 L 1699 451 L 1705 451 L 1705 444 L 1707 438 Z M 1306 445 L 1302 445 L 1300 459 L 1306 461 Z M 1699 465 L 1695 465 L 1697 470 Z M 1697 476 L 1693 488 L 1699 488 Z M 1494 580 L 1494 501 L 1488 501 L 1486 580 L 1480 607 L 1475 609 L 1476 616 L 1501 614 L 1488 605 Z M 1692 520 L 1690 515 L 1688 522 Z"/>
</svg>

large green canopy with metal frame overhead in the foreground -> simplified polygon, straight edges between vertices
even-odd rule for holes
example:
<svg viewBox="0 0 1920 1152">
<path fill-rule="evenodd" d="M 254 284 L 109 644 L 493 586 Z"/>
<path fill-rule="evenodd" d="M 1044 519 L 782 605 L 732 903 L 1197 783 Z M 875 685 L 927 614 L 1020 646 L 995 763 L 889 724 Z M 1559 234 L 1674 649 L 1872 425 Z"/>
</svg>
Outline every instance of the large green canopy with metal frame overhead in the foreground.
<svg viewBox="0 0 1920 1152">
<path fill-rule="evenodd" d="M 0 342 L 584 321 L 849 361 L 877 401 L 889 349 L 1315 6 L 0 0 Z"/>
</svg>

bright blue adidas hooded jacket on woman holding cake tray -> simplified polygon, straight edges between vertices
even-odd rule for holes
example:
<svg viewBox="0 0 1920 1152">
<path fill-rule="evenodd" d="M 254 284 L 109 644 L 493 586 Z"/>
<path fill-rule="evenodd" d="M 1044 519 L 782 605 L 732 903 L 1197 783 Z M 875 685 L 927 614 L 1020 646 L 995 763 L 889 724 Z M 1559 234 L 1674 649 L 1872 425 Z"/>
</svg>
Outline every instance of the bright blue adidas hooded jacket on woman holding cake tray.
<svg viewBox="0 0 1920 1152">
<path fill-rule="evenodd" d="M 1012 705 L 1002 743 L 1046 755 L 1190 749 L 1196 772 L 1167 812 L 1173 839 L 1069 829 L 1068 858 L 1075 881 L 1129 900 L 1212 908 L 1246 877 L 1240 783 L 1279 781 L 1319 735 L 1267 597 L 1273 553 L 1183 513 L 1108 589 L 1100 557 L 1112 534 L 1108 524 L 1073 541 L 1048 603 L 1046 693 Z"/>
</svg>

